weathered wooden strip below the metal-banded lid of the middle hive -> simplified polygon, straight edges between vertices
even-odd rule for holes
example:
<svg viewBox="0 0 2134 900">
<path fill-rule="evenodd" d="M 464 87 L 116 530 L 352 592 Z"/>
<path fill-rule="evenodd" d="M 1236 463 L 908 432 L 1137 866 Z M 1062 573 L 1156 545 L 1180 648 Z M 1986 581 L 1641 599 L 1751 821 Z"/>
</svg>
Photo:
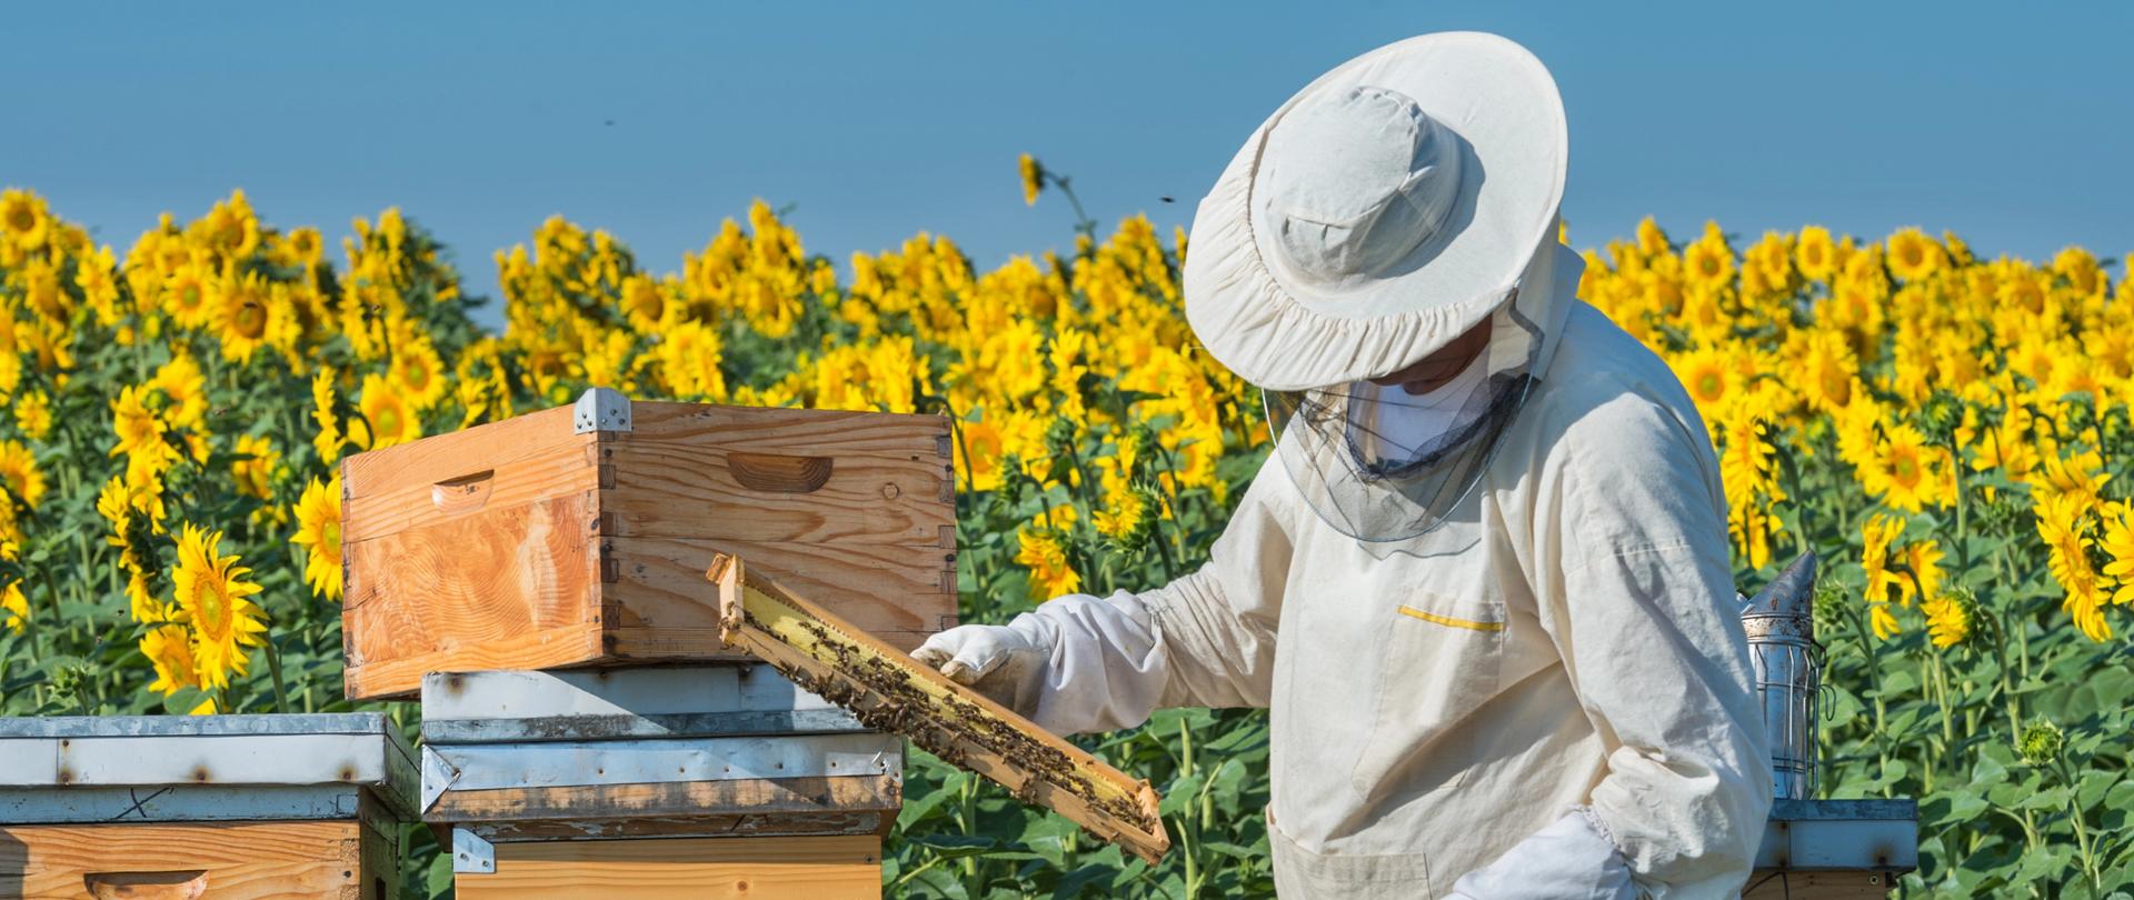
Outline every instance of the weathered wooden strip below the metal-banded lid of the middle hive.
<svg viewBox="0 0 2134 900">
<path fill-rule="evenodd" d="M 444 791 L 423 815 L 435 823 L 653 819 L 676 815 L 896 813 L 903 774 L 730 778 L 638 785 L 504 787 Z"/>
</svg>

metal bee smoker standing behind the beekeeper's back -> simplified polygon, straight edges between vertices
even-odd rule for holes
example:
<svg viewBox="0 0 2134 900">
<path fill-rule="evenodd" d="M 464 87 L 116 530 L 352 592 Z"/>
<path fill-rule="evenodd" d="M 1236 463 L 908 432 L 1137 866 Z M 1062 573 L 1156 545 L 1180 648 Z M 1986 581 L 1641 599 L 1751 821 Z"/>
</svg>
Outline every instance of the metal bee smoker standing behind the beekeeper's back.
<svg viewBox="0 0 2134 900">
<path fill-rule="evenodd" d="M 1822 646 L 1816 644 L 1814 593 L 1816 555 L 1803 552 L 1756 597 L 1741 601 L 1763 727 L 1771 736 L 1771 795 L 1778 800 L 1807 800 L 1816 793 Z"/>
</svg>

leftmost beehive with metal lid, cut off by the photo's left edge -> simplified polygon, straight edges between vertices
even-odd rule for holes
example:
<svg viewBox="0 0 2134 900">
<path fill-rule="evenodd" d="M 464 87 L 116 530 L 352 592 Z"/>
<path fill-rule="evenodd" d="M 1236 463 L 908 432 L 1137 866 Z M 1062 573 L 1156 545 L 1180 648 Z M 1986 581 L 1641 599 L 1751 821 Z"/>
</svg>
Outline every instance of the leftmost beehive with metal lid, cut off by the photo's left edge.
<svg viewBox="0 0 2134 900">
<path fill-rule="evenodd" d="M 0 719 L 0 896 L 399 896 L 416 764 L 376 712 Z"/>
</svg>

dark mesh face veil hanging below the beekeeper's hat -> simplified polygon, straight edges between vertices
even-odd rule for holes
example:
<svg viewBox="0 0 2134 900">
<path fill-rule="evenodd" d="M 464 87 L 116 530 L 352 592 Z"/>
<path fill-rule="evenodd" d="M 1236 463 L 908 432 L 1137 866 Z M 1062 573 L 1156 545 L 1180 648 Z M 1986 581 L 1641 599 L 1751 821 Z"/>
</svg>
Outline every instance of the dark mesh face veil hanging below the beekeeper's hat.
<svg viewBox="0 0 2134 900">
<path fill-rule="evenodd" d="M 1543 331 L 1560 328 L 1571 303 L 1575 282 L 1551 273 L 1562 269 L 1551 267 L 1558 252 L 1541 247 L 1519 290 L 1490 314 L 1487 350 L 1436 390 L 1349 382 L 1261 392 L 1274 452 L 1321 520 L 1361 542 L 1411 540 L 1475 493 L 1547 367 L 1554 341 Z"/>
</svg>

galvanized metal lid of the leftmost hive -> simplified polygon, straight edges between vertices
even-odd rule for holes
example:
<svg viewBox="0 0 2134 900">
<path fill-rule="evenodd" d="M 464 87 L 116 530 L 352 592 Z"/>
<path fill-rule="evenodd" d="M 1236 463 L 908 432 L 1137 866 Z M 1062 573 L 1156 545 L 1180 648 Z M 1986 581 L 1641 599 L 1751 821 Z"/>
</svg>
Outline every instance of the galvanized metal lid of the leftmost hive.
<svg viewBox="0 0 2134 900">
<path fill-rule="evenodd" d="M 382 712 L 0 719 L 0 787 L 160 785 L 356 785 L 412 817 L 420 778 Z"/>
</svg>

